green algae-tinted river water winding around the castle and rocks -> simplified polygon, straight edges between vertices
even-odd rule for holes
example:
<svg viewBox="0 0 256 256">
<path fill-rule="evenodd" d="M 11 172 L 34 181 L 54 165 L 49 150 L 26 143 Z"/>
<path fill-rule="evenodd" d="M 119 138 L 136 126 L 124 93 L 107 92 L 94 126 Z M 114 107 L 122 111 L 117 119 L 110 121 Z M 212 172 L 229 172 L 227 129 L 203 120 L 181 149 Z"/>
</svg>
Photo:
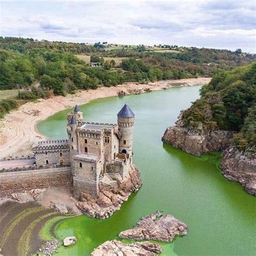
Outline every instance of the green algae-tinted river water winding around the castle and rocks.
<svg viewBox="0 0 256 256">
<path fill-rule="evenodd" d="M 195 157 L 161 142 L 166 127 L 174 124 L 180 110 L 199 97 L 199 88 L 176 87 L 98 99 L 80 106 L 86 121 L 116 123 L 117 112 L 125 102 L 130 105 L 136 115 L 134 164 L 142 173 L 143 186 L 109 219 L 80 215 L 59 220 L 54 228 L 58 239 L 77 237 L 77 244 L 60 247 L 59 255 L 88 255 L 157 210 L 173 214 L 188 225 L 187 236 L 159 243 L 163 246 L 161 255 L 255 255 L 256 200 L 241 185 L 221 175 L 220 152 Z M 69 111 L 60 111 L 39 123 L 39 132 L 52 139 L 66 138 Z M 45 224 L 45 237 L 53 222 Z"/>
</svg>

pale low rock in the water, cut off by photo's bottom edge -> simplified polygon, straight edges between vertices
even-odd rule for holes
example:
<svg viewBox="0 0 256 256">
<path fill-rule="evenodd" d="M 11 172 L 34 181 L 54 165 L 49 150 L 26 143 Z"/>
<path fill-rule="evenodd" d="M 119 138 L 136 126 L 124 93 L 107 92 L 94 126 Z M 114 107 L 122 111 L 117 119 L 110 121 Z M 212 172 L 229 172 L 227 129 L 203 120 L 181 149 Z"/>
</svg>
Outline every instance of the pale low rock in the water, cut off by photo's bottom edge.
<svg viewBox="0 0 256 256">
<path fill-rule="evenodd" d="M 161 246 L 152 244 L 152 242 L 136 242 L 134 244 L 124 244 L 118 240 L 106 241 L 98 246 L 92 253 L 92 256 L 153 256 L 161 252 Z"/>
</svg>

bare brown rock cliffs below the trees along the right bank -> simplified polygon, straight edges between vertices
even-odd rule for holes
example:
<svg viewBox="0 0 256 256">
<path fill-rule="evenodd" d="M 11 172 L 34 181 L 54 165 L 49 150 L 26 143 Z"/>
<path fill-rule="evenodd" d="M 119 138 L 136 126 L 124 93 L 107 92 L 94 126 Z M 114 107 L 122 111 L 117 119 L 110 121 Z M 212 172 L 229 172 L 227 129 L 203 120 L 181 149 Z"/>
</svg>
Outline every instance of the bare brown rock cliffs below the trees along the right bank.
<svg viewBox="0 0 256 256">
<path fill-rule="evenodd" d="M 200 156 L 211 151 L 223 151 L 221 169 L 225 178 L 245 186 L 247 193 L 256 196 L 256 159 L 253 154 L 241 153 L 230 145 L 232 132 L 206 131 L 202 127 L 187 128 L 181 114 L 176 125 L 167 127 L 163 142 L 187 153 Z"/>
</svg>

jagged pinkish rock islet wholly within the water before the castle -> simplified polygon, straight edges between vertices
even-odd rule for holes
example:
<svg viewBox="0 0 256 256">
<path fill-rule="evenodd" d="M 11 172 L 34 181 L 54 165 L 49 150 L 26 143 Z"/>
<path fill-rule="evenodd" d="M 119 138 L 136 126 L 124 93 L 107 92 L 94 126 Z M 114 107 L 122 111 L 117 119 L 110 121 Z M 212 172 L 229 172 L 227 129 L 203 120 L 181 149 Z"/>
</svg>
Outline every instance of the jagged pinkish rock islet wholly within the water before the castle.
<svg viewBox="0 0 256 256">
<path fill-rule="evenodd" d="M 119 233 L 119 237 L 134 240 L 156 240 L 171 242 L 176 235 L 186 235 L 187 225 L 171 214 L 163 215 L 157 211 L 146 215 L 136 227 Z"/>
</svg>

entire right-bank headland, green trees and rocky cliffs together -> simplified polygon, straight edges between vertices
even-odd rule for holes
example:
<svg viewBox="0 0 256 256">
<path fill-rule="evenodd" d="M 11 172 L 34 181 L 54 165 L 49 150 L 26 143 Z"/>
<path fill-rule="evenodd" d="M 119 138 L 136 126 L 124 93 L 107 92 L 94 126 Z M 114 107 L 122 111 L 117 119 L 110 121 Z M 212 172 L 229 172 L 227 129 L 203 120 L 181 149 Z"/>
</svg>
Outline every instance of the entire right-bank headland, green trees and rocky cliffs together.
<svg viewBox="0 0 256 256">
<path fill-rule="evenodd" d="M 201 98 L 167 127 L 163 142 L 200 156 L 223 150 L 221 169 L 228 180 L 256 196 L 256 64 L 220 72 L 201 89 Z"/>
</svg>

